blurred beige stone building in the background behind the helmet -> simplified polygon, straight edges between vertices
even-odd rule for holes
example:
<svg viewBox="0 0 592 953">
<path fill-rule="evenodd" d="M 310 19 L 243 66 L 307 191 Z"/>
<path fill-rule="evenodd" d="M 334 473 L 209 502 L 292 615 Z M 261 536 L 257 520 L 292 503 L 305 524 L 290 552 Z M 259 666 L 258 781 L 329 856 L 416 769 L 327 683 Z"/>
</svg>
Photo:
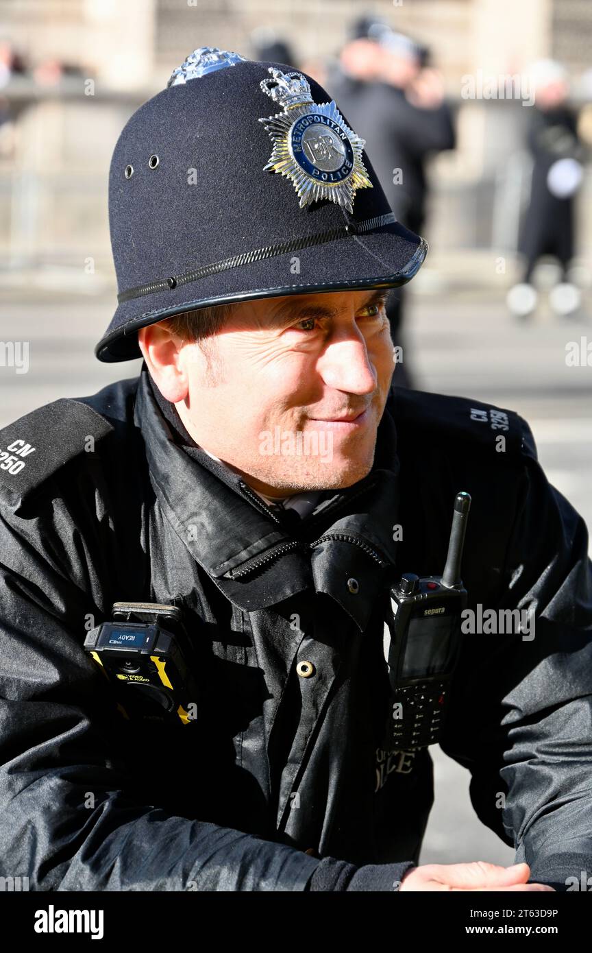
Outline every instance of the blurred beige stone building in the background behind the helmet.
<svg viewBox="0 0 592 953">
<path fill-rule="evenodd" d="M 252 30 L 266 26 L 289 41 L 297 65 L 322 65 L 366 11 L 431 48 L 457 113 L 458 150 L 432 169 L 428 237 L 435 253 L 511 251 L 523 193 L 512 156 L 525 109 L 510 98 L 464 98 L 464 78 L 518 74 L 550 56 L 567 66 L 582 103 L 589 96 L 589 0 L 4 0 L 3 274 L 49 263 L 69 266 L 72 280 L 78 270 L 94 274 L 97 287 L 112 283 L 110 155 L 131 112 L 164 89 L 189 51 L 208 45 L 248 56 Z M 588 176 L 583 251 L 592 246 L 590 189 Z"/>
</svg>

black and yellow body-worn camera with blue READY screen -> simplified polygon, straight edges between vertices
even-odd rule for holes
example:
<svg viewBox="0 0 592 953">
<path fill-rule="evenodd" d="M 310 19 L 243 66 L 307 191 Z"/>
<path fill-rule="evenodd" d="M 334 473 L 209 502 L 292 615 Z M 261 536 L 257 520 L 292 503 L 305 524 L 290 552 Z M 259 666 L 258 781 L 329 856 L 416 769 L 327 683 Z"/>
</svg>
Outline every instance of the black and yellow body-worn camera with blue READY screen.
<svg viewBox="0 0 592 953">
<path fill-rule="evenodd" d="M 197 715 L 197 687 L 181 610 L 159 602 L 114 602 L 111 622 L 91 629 L 84 647 L 117 691 L 127 718 Z"/>
</svg>

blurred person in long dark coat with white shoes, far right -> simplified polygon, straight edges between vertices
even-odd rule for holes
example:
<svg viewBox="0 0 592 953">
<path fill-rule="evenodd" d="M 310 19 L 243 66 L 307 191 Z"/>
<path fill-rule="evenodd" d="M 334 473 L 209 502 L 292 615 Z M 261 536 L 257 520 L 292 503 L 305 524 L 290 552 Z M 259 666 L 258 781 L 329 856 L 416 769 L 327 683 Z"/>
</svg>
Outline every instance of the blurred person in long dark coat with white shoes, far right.
<svg viewBox="0 0 592 953">
<path fill-rule="evenodd" d="M 577 113 L 567 105 L 569 86 L 561 64 L 542 60 L 534 64 L 530 76 L 535 105 L 529 111 L 526 140 L 533 166 L 518 245 L 523 277 L 507 294 L 509 310 L 520 319 L 537 307 L 533 274 L 547 254 L 561 266 L 561 280 L 549 294 L 553 311 L 574 314 L 581 304 L 580 289 L 568 280 L 568 269 L 574 255 L 575 204 L 585 147 L 578 135 Z"/>
</svg>

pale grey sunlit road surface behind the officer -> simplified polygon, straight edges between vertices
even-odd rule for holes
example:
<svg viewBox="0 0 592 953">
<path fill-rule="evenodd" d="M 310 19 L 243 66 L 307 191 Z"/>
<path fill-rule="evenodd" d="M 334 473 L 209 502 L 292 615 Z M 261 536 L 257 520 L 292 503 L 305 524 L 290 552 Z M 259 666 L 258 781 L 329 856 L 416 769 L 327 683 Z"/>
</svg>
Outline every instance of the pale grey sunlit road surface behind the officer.
<svg viewBox="0 0 592 953">
<path fill-rule="evenodd" d="M 0 426 L 58 396 L 92 394 L 110 380 L 138 374 L 139 361 L 101 364 L 92 353 L 109 324 L 112 295 L 74 297 L 31 287 L 3 296 L 0 342 L 28 341 L 30 370 L 17 374 L 0 366 Z M 592 525 L 592 367 L 565 364 L 565 345 L 582 336 L 592 341 L 592 323 L 559 321 L 543 311 L 531 325 L 517 326 L 500 294 L 475 288 L 416 294 L 409 317 L 405 355 L 409 366 L 413 360 L 416 386 L 525 416 L 550 481 Z M 422 861 L 511 863 L 513 851 L 473 812 L 468 773 L 437 746 L 432 753 L 436 806 Z"/>
</svg>

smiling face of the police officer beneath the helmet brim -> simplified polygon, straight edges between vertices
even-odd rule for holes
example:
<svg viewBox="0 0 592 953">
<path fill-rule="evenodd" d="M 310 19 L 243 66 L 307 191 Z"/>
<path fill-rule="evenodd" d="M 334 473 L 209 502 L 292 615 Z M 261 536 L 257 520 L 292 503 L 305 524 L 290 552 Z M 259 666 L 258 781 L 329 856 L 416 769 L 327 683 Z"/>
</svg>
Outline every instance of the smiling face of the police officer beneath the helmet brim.
<svg viewBox="0 0 592 953">
<path fill-rule="evenodd" d="M 162 322 L 139 332 L 140 346 L 189 434 L 252 488 L 344 488 L 372 467 L 394 371 L 386 294 L 241 302 L 205 341 L 171 338 Z"/>
</svg>

